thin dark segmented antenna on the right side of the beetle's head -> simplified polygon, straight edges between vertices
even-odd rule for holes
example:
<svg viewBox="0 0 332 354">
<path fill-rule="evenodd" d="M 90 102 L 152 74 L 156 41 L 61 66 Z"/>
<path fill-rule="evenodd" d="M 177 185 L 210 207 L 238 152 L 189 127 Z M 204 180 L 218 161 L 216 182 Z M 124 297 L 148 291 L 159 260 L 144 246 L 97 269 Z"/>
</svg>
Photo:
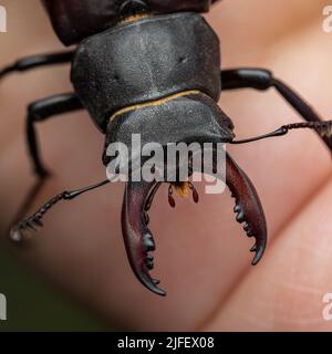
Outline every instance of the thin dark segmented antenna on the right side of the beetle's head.
<svg viewBox="0 0 332 354">
<path fill-rule="evenodd" d="M 321 137 L 331 137 L 332 136 L 332 121 L 292 123 L 292 124 L 282 125 L 280 128 L 273 131 L 272 133 L 259 135 L 257 137 L 242 139 L 242 140 L 232 140 L 229 144 L 246 144 L 246 143 L 257 142 L 257 140 L 261 140 L 261 139 L 264 139 L 268 137 L 282 136 L 293 129 L 303 129 L 303 128 L 313 129 Z"/>
</svg>

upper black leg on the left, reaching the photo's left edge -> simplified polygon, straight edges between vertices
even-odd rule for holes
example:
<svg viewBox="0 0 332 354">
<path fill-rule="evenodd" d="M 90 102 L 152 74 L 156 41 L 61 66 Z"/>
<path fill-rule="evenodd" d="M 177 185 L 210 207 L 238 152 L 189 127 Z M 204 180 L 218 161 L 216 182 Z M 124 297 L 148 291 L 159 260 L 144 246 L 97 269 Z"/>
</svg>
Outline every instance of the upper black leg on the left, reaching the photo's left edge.
<svg viewBox="0 0 332 354">
<path fill-rule="evenodd" d="M 73 59 L 74 51 L 62 53 L 48 53 L 27 56 L 18 60 L 11 65 L 8 65 L 0 70 L 0 80 L 6 75 L 14 72 L 24 72 L 31 69 L 70 63 Z"/>
</svg>

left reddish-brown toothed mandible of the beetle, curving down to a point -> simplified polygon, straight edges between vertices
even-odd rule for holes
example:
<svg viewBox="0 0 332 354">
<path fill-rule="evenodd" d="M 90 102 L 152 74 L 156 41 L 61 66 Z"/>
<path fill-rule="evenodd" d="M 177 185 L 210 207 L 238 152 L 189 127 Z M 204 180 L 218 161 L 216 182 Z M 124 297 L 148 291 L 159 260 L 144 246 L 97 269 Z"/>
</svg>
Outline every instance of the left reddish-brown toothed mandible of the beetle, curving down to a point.
<svg viewBox="0 0 332 354">
<path fill-rule="evenodd" d="M 159 185 L 157 181 L 126 183 L 122 229 L 134 273 L 148 290 L 158 295 L 166 295 L 166 292 L 157 287 L 159 281 L 149 275 L 149 270 L 154 268 L 154 259 L 148 252 L 155 250 L 155 243 L 152 232 L 147 228 L 146 212 Z"/>
</svg>

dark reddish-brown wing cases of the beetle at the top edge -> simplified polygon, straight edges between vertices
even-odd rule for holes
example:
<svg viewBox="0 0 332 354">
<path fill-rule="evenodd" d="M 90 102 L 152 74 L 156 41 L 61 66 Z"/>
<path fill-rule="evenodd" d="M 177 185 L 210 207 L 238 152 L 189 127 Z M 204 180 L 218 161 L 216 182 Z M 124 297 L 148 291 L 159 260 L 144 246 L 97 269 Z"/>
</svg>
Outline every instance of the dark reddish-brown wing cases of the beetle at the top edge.
<svg viewBox="0 0 332 354">
<path fill-rule="evenodd" d="M 59 39 L 65 45 L 115 25 L 122 11 L 172 13 L 179 11 L 207 12 L 218 0 L 42 0 Z"/>
</svg>

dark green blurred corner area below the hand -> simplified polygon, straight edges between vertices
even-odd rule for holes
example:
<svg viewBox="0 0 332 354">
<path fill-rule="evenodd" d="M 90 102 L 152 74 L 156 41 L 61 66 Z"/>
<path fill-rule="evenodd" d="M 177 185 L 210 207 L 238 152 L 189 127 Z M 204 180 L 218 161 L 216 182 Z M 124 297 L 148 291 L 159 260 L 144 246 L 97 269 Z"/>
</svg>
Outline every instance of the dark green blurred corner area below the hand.
<svg viewBox="0 0 332 354">
<path fill-rule="evenodd" d="M 0 241 L 1 242 L 1 241 Z M 8 331 L 105 331 L 84 309 L 48 289 L 0 244 L 0 293 L 7 298 Z"/>
</svg>

